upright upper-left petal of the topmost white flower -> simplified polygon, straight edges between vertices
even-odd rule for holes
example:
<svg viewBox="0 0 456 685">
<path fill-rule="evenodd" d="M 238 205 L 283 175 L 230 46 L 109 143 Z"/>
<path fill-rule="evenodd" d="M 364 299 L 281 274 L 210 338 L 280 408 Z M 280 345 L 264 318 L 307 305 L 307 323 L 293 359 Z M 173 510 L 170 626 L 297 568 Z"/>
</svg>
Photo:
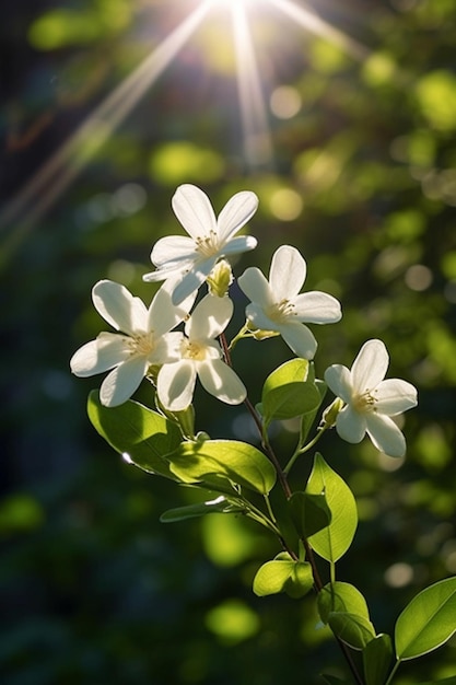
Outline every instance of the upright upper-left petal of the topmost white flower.
<svg viewBox="0 0 456 685">
<path fill-rule="evenodd" d="M 172 199 L 173 210 L 187 233 L 194 239 L 217 233 L 212 205 L 200 188 L 190 184 L 179 186 Z"/>
</svg>

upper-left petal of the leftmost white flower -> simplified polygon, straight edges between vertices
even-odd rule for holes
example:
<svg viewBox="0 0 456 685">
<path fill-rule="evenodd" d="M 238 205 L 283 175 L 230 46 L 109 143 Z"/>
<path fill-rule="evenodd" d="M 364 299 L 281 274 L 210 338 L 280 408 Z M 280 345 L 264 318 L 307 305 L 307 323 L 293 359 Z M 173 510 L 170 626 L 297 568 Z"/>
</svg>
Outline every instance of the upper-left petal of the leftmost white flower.
<svg viewBox="0 0 456 685">
<path fill-rule="evenodd" d="M 139 298 L 133 298 L 124 286 L 110 280 L 98 281 L 92 289 L 96 311 L 117 330 L 130 335 L 145 332 L 148 310 Z"/>
</svg>

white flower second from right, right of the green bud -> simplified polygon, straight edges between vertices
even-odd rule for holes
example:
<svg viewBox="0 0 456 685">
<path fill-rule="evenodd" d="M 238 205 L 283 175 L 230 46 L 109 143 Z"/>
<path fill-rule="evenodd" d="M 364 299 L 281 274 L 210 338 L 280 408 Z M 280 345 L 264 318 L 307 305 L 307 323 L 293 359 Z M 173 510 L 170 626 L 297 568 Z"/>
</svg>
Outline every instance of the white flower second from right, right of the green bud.
<svg viewBox="0 0 456 685">
<path fill-rule="evenodd" d="M 306 270 L 299 251 L 282 245 L 272 256 L 269 281 L 259 269 L 250 267 L 238 283 L 252 300 L 246 309 L 250 324 L 260 330 L 280 333 L 297 357 L 313 359 L 317 341 L 304 322 L 332 324 L 341 318 L 342 313 L 339 302 L 325 292 L 299 294 Z"/>
</svg>

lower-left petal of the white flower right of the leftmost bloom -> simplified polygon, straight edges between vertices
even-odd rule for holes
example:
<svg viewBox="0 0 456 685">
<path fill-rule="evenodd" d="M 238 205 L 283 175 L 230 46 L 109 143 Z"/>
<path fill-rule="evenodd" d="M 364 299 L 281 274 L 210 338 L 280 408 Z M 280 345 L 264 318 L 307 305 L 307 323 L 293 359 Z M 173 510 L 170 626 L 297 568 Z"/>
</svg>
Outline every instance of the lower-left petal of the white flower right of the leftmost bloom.
<svg viewBox="0 0 456 685">
<path fill-rule="evenodd" d="M 197 372 L 195 364 L 180 360 L 173 364 L 164 364 L 156 379 L 156 392 L 162 405 L 169 411 L 186 409 L 194 397 Z"/>
</svg>

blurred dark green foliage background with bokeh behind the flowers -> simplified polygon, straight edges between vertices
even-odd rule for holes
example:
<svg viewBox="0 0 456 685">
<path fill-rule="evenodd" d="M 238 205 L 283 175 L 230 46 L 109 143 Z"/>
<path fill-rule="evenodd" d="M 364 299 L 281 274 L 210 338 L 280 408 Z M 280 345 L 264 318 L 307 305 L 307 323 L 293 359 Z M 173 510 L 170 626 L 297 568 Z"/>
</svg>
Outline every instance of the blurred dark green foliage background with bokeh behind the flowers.
<svg viewBox="0 0 456 685">
<path fill-rule="evenodd" d="M 199 3 L 7 4 L 8 209 Z M 377 629 L 391 631 L 413 594 L 456 571 L 456 2 L 309 5 L 365 49 L 335 45 L 272 5 L 252 8 L 270 159 L 246 151 L 231 24 L 226 8 L 213 9 L 106 142 L 82 141 L 84 163 L 65 160 L 62 174 L 33 201 L 21 195 L 2 222 L 0 673 L 9 685 L 312 685 L 323 664 L 343 676 L 312 597 L 253 595 L 256 570 L 279 552 L 273 542 L 215 514 L 160 524 L 195 494 L 122 464 L 85 416 L 94 379 L 69 373 L 72 352 L 103 328 L 90 300 L 95 281 L 152 297 L 141 278 L 157 237 L 182 233 L 171 197 L 183 182 L 203 187 L 217 211 L 236 190 L 258 194 L 249 232 L 259 247 L 237 274 L 267 269 L 290 243 L 307 259 L 306 287 L 341 300 L 342 322 L 315 330 L 317 373 L 351 365 L 364 340 L 379 337 L 389 375 L 419 388 L 404 463 L 367 442 L 321 441 L 359 499 L 340 580 L 356 584 Z M 74 173 L 60 193 L 66 170 Z M 234 334 L 244 301 L 233 297 Z M 236 347 L 253 402 L 288 358 L 280 339 Z M 137 396 L 148 403 L 148 387 Z M 203 393 L 197 423 L 213 438 L 256 441 L 242 408 Z M 284 461 L 293 430 L 293 421 L 276 426 Z M 307 474 L 304 462 L 295 477 Z M 455 663 L 453 639 L 404 665 L 397 683 L 455 675 Z"/>
</svg>

